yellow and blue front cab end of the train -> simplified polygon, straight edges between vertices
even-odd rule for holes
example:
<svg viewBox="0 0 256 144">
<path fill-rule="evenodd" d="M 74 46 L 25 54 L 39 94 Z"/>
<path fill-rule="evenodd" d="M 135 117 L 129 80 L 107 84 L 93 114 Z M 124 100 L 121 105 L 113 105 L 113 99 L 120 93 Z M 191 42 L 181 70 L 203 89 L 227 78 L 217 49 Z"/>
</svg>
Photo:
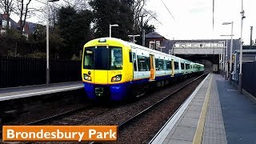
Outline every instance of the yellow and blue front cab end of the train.
<svg viewBox="0 0 256 144">
<path fill-rule="evenodd" d="M 133 78 L 130 49 L 114 38 L 87 42 L 83 49 L 82 81 L 88 98 L 120 101 Z"/>
</svg>

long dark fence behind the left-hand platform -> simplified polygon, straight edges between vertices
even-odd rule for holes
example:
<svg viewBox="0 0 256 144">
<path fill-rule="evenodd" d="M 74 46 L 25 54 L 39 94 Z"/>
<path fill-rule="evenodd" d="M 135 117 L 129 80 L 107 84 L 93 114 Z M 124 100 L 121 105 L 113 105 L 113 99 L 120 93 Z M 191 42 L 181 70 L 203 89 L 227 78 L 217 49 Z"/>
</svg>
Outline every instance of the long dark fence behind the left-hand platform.
<svg viewBox="0 0 256 144">
<path fill-rule="evenodd" d="M 50 61 L 50 83 L 80 81 L 81 62 Z M 0 87 L 46 83 L 46 59 L 0 56 Z"/>
</svg>

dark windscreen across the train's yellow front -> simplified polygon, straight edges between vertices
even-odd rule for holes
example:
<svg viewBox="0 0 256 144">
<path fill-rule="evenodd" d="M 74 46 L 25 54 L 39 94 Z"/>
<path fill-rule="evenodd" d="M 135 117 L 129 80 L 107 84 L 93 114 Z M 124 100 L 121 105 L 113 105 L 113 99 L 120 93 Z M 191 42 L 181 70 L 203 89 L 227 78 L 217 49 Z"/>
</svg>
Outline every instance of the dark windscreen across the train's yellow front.
<svg viewBox="0 0 256 144">
<path fill-rule="evenodd" d="M 84 69 L 122 70 L 122 48 L 116 46 L 92 46 L 84 51 Z"/>
</svg>

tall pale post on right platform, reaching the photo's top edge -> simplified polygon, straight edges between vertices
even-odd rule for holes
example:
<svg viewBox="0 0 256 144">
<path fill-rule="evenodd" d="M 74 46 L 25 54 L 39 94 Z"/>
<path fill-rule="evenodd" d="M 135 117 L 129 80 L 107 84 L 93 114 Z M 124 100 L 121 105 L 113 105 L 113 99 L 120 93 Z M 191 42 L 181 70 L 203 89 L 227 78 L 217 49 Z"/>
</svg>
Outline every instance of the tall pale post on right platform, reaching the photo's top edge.
<svg viewBox="0 0 256 144">
<path fill-rule="evenodd" d="M 240 12 L 241 14 L 241 40 L 240 40 L 240 58 L 239 58 L 239 83 L 238 83 L 238 90 L 242 93 L 242 21 L 243 18 L 246 18 L 245 11 L 243 10 L 243 0 L 242 0 L 242 10 Z"/>
</svg>

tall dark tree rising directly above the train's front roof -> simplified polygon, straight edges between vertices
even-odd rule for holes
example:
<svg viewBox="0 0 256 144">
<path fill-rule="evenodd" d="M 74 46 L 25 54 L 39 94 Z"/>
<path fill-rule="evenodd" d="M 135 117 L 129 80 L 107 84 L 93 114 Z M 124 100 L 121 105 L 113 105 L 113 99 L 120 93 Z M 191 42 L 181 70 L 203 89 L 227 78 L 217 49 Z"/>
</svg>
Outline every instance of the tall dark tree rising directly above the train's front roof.
<svg viewBox="0 0 256 144">
<path fill-rule="evenodd" d="M 92 0 L 90 6 L 93 8 L 94 32 L 97 38 L 109 36 L 110 24 L 118 24 L 112 30 L 114 37 L 127 40 L 127 35 L 133 33 L 134 13 L 130 9 L 130 1 Z"/>
</svg>

